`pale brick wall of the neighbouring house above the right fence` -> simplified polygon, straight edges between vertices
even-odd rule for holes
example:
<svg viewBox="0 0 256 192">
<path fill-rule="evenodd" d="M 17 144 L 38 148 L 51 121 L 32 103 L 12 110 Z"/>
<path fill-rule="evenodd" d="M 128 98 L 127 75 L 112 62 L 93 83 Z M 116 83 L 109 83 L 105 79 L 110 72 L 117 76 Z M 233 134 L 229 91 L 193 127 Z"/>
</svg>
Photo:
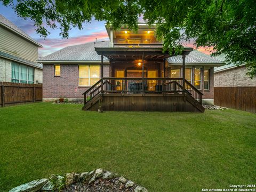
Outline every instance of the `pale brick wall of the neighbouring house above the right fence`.
<svg viewBox="0 0 256 192">
<path fill-rule="evenodd" d="M 235 86 L 256 86 L 256 77 L 251 79 L 246 75 L 245 66 L 235 67 L 214 73 L 215 87 L 235 87 Z"/>
</svg>

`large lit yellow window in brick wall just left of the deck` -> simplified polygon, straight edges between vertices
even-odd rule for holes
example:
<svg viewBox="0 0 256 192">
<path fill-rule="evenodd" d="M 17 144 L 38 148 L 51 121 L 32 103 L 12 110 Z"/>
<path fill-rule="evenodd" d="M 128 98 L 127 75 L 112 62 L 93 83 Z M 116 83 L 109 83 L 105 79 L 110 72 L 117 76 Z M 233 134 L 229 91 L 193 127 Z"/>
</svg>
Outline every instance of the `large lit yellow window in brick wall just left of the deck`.
<svg viewBox="0 0 256 192">
<path fill-rule="evenodd" d="M 78 85 L 92 86 L 100 80 L 100 66 L 80 65 Z"/>
</svg>

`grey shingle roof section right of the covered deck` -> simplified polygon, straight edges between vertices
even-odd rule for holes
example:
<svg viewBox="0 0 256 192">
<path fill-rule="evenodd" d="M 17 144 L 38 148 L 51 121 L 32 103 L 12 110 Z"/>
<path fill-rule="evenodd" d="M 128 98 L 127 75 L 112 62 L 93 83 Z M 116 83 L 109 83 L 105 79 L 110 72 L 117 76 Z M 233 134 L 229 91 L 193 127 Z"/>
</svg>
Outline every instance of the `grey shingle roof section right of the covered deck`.
<svg viewBox="0 0 256 192">
<path fill-rule="evenodd" d="M 167 59 L 169 63 L 182 63 L 182 55 L 170 57 Z M 186 63 L 223 63 L 222 61 L 211 57 L 205 53 L 194 50 L 186 56 Z"/>
</svg>

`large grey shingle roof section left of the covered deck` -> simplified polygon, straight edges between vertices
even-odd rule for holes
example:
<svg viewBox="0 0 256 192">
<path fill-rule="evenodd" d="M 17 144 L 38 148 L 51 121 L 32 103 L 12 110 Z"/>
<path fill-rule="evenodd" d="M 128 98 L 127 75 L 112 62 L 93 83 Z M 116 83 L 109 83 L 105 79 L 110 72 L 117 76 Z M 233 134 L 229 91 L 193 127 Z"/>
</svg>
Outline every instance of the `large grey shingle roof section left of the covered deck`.
<svg viewBox="0 0 256 192">
<path fill-rule="evenodd" d="M 108 47 L 109 41 L 95 43 L 95 47 Z M 104 57 L 104 61 L 108 61 Z M 49 54 L 39 61 L 101 61 L 101 56 L 94 50 L 94 42 L 65 47 Z"/>
</svg>

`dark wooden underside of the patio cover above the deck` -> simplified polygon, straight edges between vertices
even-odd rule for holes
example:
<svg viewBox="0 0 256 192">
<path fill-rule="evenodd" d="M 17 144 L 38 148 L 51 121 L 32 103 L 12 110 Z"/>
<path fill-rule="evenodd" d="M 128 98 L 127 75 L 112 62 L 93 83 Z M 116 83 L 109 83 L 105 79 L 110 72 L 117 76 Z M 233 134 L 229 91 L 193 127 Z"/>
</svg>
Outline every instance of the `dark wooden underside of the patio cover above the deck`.
<svg viewBox="0 0 256 192">
<path fill-rule="evenodd" d="M 115 60 L 137 60 L 144 55 L 145 60 L 162 60 L 172 57 L 169 52 L 163 52 L 160 47 L 95 47 L 99 55 Z M 193 51 L 193 48 L 185 47 L 183 52 Z"/>
</svg>

